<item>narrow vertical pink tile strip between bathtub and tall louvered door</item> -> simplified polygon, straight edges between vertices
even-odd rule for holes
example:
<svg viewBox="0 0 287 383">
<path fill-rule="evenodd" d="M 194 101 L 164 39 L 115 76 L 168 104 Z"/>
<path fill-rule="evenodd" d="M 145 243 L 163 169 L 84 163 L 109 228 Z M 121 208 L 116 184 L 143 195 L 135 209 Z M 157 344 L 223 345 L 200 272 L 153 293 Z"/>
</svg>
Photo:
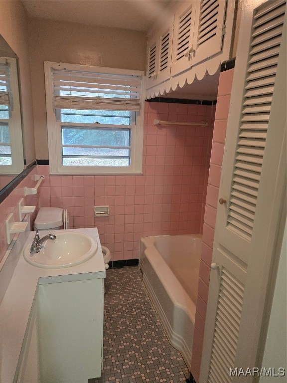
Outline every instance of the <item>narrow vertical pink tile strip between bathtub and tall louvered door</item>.
<svg viewBox="0 0 287 383">
<path fill-rule="evenodd" d="M 202 253 L 199 269 L 198 297 L 194 325 L 191 373 L 199 382 L 199 371 L 203 347 L 205 315 L 208 299 L 210 265 L 212 258 L 216 209 L 220 184 L 220 175 L 225 144 L 227 117 L 234 69 L 220 73 L 218 98 L 215 112 L 214 132 L 207 184 L 207 195 L 202 234 Z"/>
</svg>

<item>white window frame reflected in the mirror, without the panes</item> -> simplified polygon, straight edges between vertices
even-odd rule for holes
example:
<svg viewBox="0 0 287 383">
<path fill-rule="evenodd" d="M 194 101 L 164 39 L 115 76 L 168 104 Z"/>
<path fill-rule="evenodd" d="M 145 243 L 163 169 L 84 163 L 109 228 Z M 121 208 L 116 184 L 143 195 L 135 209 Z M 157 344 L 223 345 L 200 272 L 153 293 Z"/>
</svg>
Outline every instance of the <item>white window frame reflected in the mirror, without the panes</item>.
<svg viewBox="0 0 287 383">
<path fill-rule="evenodd" d="M 17 175 L 24 169 L 17 60 L 13 57 L 0 57 L 0 60 L 9 65 L 9 119 L 1 119 L 1 122 L 8 124 L 12 159 L 12 165 L 0 165 L 0 173 Z"/>
</svg>

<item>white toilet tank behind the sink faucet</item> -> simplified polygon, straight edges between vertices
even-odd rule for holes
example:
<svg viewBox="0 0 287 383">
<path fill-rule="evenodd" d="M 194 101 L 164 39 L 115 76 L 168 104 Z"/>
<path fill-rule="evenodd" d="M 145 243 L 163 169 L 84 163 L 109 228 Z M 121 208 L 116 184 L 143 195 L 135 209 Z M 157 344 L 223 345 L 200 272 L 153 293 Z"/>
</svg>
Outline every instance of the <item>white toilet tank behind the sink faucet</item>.
<svg viewBox="0 0 287 383">
<path fill-rule="evenodd" d="M 63 228 L 61 207 L 40 207 L 34 222 L 34 230 L 59 230 Z"/>
</svg>

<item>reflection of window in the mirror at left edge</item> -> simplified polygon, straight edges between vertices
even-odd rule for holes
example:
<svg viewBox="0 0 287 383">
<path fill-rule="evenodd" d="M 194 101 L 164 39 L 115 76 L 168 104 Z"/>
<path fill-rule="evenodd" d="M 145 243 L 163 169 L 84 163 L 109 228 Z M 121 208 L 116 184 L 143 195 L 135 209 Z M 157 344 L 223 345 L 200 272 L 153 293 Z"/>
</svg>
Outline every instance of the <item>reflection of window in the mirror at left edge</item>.
<svg viewBox="0 0 287 383">
<path fill-rule="evenodd" d="M 18 174 L 23 168 L 17 63 L 0 57 L 0 173 Z"/>
</svg>

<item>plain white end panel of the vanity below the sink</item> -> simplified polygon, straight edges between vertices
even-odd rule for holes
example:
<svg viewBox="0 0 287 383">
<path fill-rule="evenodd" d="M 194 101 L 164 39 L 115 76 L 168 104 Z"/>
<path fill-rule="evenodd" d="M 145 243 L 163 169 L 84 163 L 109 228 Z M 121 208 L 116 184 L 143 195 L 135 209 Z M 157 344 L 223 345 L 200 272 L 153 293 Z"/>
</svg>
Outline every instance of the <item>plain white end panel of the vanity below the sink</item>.
<svg viewBox="0 0 287 383">
<path fill-rule="evenodd" d="M 103 279 L 39 284 L 41 383 L 87 383 L 103 361 Z"/>
</svg>

